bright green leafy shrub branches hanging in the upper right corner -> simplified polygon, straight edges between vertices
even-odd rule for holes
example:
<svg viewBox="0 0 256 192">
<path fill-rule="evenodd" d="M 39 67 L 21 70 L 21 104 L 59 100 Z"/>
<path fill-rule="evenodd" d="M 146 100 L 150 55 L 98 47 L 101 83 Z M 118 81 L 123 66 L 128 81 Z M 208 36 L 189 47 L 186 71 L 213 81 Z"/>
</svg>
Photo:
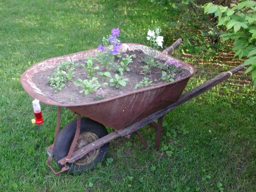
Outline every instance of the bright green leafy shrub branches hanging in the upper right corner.
<svg viewBox="0 0 256 192">
<path fill-rule="evenodd" d="M 204 13 L 214 14 L 218 18 L 217 26 L 225 26 L 227 33 L 220 37 L 234 40 L 233 51 L 239 58 L 246 57 L 244 65 L 250 65 L 245 73 L 251 72 L 256 87 L 256 2 L 242 0 L 232 4 L 232 8 L 208 3 Z"/>
</svg>

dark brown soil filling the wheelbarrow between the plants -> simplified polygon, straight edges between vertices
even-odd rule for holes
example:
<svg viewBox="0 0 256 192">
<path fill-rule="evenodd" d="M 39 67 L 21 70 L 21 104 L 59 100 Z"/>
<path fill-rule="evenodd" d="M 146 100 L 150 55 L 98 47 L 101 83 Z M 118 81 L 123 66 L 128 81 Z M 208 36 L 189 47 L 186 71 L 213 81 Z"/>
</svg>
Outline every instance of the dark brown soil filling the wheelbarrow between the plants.
<svg viewBox="0 0 256 192">
<path fill-rule="evenodd" d="M 122 87 L 120 86 L 119 88 L 116 87 L 110 87 L 109 86 L 109 80 L 110 78 L 106 77 L 105 82 L 108 83 L 108 85 L 105 85 L 102 87 L 102 90 L 104 90 L 104 98 L 113 98 L 114 96 L 119 96 L 120 94 L 125 94 L 129 93 L 131 91 L 134 91 L 134 87 L 136 86 L 137 83 L 142 81 L 145 77 L 149 78 L 152 81 L 152 84 L 149 85 L 149 87 L 152 87 L 154 85 L 159 85 L 166 83 L 161 79 L 161 70 L 158 69 L 157 67 L 151 67 L 151 71 L 148 74 L 143 74 L 142 73 L 142 66 L 145 66 L 146 63 L 143 62 L 143 58 L 145 57 L 145 54 L 142 51 L 126 51 L 122 52 L 122 58 L 125 57 L 126 55 L 136 55 L 136 58 L 133 58 L 133 62 L 128 65 L 130 68 L 130 72 L 123 72 L 123 78 L 128 78 L 129 80 L 126 81 L 126 86 Z M 120 63 L 121 58 L 116 58 L 116 63 Z M 79 60 L 76 61 L 75 63 L 85 63 L 86 60 Z M 155 60 L 156 61 L 156 60 Z M 166 61 L 161 61 L 158 60 L 161 63 L 165 63 Z M 98 78 L 99 84 L 103 84 L 104 82 L 101 79 L 101 76 L 97 74 L 97 72 L 103 72 L 103 67 L 101 66 L 100 63 L 97 63 L 97 61 L 93 61 L 93 66 L 99 66 L 99 70 L 96 70 L 95 73 L 93 73 L 93 76 Z M 111 73 L 111 76 L 114 77 L 114 72 L 113 69 L 108 70 Z M 73 103 L 81 103 L 81 102 L 93 102 L 97 101 L 96 99 L 96 92 L 85 95 L 84 93 L 79 93 L 80 90 L 83 88 L 77 87 L 73 84 L 73 82 L 80 78 L 82 80 L 84 79 L 92 79 L 87 78 L 87 72 L 86 70 L 81 67 L 81 64 L 78 64 L 78 66 L 75 67 L 75 77 L 71 80 L 66 82 L 66 86 L 62 88 L 61 91 L 58 91 L 55 93 L 54 88 L 52 88 L 49 84 L 48 77 L 54 73 L 54 69 L 48 69 L 45 71 L 42 71 L 40 73 L 37 73 L 36 75 L 33 76 L 33 82 L 34 84 L 37 85 L 37 87 L 44 93 L 46 96 L 49 98 L 53 99 L 54 101 L 63 103 L 63 104 L 73 104 Z M 172 75 L 172 78 L 174 80 L 183 78 L 184 76 L 187 76 L 190 74 L 190 72 L 186 69 L 181 69 L 176 72 L 173 71 L 167 71 L 167 74 Z M 140 87 L 139 89 L 142 89 L 145 87 Z"/>
</svg>

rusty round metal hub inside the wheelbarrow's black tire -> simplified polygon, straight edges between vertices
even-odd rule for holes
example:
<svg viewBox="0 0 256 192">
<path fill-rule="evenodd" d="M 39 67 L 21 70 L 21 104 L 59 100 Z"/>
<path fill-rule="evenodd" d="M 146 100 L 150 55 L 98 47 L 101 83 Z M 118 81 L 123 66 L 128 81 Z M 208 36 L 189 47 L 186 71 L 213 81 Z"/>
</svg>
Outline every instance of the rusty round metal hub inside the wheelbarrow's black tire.
<svg viewBox="0 0 256 192">
<path fill-rule="evenodd" d="M 98 140 L 99 137 L 93 132 L 83 132 L 79 135 L 76 146 L 75 146 L 75 151 L 79 150 L 87 144 L 92 143 L 93 141 Z M 89 163 L 92 163 L 95 158 L 99 155 L 99 149 L 95 149 L 84 155 L 81 159 L 78 159 L 74 163 L 78 166 L 86 166 Z"/>
</svg>

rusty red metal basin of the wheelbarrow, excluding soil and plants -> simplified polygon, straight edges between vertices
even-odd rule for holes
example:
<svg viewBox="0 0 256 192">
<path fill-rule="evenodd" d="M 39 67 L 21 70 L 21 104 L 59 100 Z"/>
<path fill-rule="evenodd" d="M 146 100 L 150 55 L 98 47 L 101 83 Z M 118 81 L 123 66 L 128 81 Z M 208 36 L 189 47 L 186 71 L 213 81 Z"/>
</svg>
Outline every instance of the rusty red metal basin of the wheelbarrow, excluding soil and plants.
<svg viewBox="0 0 256 192">
<path fill-rule="evenodd" d="M 122 43 L 121 51 L 125 52 L 127 50 L 141 50 L 145 52 L 145 54 L 148 54 L 149 47 L 135 43 Z M 178 60 L 163 52 L 156 51 L 156 53 L 156 57 L 160 60 Z M 54 101 L 46 96 L 33 82 L 33 76 L 37 75 L 37 73 L 55 68 L 63 60 L 78 61 L 87 58 L 89 55 L 95 56 L 96 49 L 49 58 L 48 60 L 36 63 L 21 76 L 20 82 L 22 87 L 31 97 L 38 99 L 44 104 L 66 107 L 74 113 L 81 114 L 105 126 L 120 130 L 178 101 L 190 77 L 195 73 L 194 68 L 190 64 L 178 60 L 182 64 L 181 68 L 188 70 L 190 75 L 173 82 L 134 90 L 130 93 L 103 99 L 101 101 L 76 102 L 73 104 L 64 104 Z"/>
</svg>

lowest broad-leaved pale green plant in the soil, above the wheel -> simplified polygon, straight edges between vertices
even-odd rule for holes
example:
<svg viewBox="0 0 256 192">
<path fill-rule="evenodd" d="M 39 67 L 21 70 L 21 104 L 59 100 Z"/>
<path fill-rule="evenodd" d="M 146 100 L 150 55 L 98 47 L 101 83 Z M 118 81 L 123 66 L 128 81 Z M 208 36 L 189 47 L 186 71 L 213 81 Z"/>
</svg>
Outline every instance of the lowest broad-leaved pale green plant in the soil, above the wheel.
<svg viewBox="0 0 256 192">
<path fill-rule="evenodd" d="M 79 91 L 80 93 L 84 93 L 85 95 L 93 93 L 98 90 L 99 87 L 102 85 L 106 85 L 107 83 L 105 82 L 104 84 L 100 85 L 98 78 L 94 77 L 90 79 L 89 81 L 87 79 L 76 79 L 76 81 L 73 82 L 75 86 L 82 87 L 83 90 Z"/>
</svg>

